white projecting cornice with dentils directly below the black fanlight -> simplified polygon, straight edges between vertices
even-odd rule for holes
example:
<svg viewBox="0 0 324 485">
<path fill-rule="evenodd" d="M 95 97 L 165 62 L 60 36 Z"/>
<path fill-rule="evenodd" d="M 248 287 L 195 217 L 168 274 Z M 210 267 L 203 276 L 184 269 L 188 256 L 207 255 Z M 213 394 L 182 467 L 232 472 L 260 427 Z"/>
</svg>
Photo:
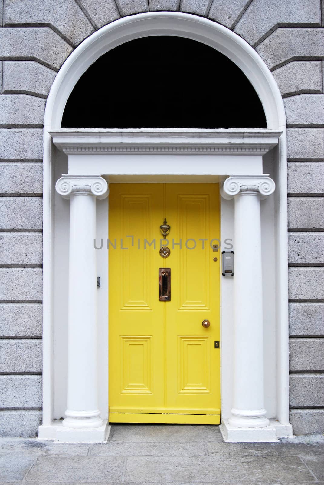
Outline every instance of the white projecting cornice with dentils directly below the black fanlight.
<svg viewBox="0 0 324 485">
<path fill-rule="evenodd" d="M 60 129 L 50 131 L 67 155 L 101 154 L 253 154 L 278 144 L 281 132 L 269 129 Z"/>
</svg>

